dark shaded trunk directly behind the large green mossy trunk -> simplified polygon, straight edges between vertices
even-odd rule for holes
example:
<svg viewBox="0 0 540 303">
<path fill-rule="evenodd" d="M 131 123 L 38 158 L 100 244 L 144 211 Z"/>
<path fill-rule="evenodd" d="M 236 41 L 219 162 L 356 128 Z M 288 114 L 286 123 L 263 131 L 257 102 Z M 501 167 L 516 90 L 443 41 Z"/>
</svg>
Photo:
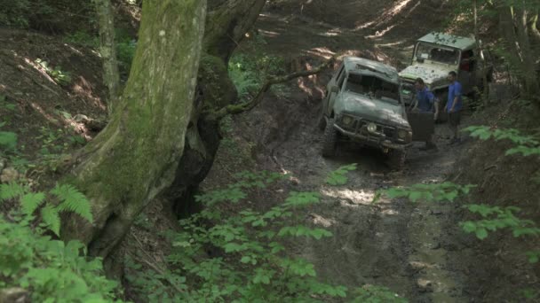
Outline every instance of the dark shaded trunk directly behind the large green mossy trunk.
<svg viewBox="0 0 540 303">
<path fill-rule="evenodd" d="M 191 196 L 210 172 L 221 136 L 219 119 L 206 113 L 237 101 L 234 83 L 228 75 L 228 60 L 264 4 L 264 0 L 209 1 L 194 113 L 177 177 L 167 197 L 176 214 L 189 209 Z"/>
</svg>

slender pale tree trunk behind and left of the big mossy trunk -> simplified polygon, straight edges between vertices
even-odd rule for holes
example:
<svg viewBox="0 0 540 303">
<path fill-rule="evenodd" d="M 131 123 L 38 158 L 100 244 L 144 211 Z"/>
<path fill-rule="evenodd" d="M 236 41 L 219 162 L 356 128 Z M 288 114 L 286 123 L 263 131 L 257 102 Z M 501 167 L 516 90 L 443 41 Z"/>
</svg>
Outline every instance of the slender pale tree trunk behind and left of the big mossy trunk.
<svg viewBox="0 0 540 303">
<path fill-rule="evenodd" d="M 93 0 L 99 22 L 99 54 L 103 60 L 103 82 L 108 89 L 107 110 L 113 113 L 113 105 L 119 95 L 120 74 L 115 49 L 115 16 L 110 0 Z"/>
</svg>

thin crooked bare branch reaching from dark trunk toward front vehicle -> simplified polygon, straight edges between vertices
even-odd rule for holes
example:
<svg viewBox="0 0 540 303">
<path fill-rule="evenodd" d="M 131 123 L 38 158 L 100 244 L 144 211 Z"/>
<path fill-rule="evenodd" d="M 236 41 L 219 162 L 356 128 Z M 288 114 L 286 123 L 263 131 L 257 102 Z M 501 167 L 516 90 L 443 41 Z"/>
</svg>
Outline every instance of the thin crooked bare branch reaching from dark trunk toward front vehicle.
<svg viewBox="0 0 540 303">
<path fill-rule="evenodd" d="M 300 77 L 307 77 L 314 74 L 320 74 L 322 71 L 327 69 L 329 66 L 331 66 L 336 61 L 336 57 L 332 57 L 329 60 L 327 60 L 325 63 L 323 63 L 321 66 L 317 66 L 316 68 L 312 70 L 305 70 L 297 73 L 287 74 L 280 77 L 270 77 L 268 80 L 266 80 L 265 84 L 258 90 L 257 95 L 253 97 L 250 101 L 244 102 L 238 105 L 226 105 L 225 107 L 219 109 L 215 112 L 207 112 L 207 119 L 208 120 L 220 120 L 224 118 L 228 114 L 238 114 L 238 113 L 245 113 L 253 109 L 255 106 L 259 105 L 261 101 L 263 100 L 263 97 L 265 96 L 266 91 L 272 87 L 274 84 L 283 83 L 283 82 L 289 82 L 290 80 L 300 78 Z"/>
</svg>

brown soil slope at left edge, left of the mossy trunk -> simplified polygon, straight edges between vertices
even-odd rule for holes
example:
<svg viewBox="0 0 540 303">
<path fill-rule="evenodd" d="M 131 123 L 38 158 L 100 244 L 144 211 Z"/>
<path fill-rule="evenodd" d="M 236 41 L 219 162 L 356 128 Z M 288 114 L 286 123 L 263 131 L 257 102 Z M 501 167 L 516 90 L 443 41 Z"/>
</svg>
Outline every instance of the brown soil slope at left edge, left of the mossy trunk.
<svg viewBox="0 0 540 303">
<path fill-rule="evenodd" d="M 36 59 L 68 73 L 71 82 L 60 85 Z M 0 30 L 0 95 L 6 104 L 16 105 L 13 111 L 2 106 L 0 114 L 8 122 L 3 130 L 19 136 L 18 158 L 43 158 L 43 147 L 54 154 L 67 153 L 80 147 L 71 136 L 90 140 L 95 135 L 74 117 L 106 119 L 100 66 L 95 52 L 64 43 L 60 37 Z M 58 139 L 46 144 L 51 134 Z"/>
</svg>

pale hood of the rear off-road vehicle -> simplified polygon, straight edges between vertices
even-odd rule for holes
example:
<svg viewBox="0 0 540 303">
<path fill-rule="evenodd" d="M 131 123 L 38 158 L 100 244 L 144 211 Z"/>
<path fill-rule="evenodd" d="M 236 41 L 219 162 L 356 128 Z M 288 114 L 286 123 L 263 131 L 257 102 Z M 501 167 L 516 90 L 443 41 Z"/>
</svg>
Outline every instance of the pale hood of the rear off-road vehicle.
<svg viewBox="0 0 540 303">
<path fill-rule="evenodd" d="M 429 85 L 430 88 L 433 88 L 433 86 L 448 86 L 447 77 L 450 71 L 452 71 L 450 66 L 438 64 L 417 64 L 402 70 L 400 72 L 400 77 L 409 80 L 422 78 L 425 84 Z"/>
</svg>

